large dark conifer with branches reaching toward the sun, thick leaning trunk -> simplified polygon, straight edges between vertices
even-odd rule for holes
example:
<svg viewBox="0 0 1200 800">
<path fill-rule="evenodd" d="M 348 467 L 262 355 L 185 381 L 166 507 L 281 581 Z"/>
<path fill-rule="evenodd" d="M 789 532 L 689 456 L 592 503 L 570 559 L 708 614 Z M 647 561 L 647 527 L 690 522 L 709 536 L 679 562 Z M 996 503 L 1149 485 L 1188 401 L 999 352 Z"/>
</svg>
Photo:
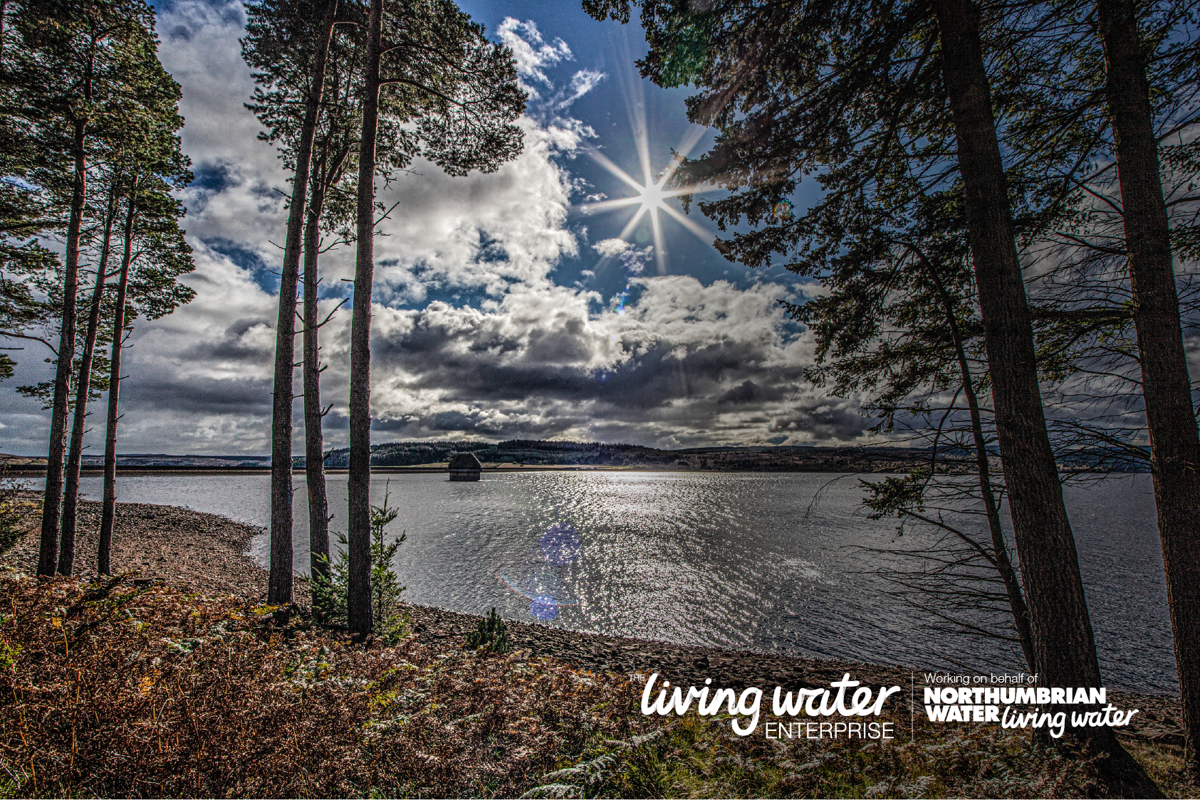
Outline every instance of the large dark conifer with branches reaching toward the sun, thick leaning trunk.
<svg viewBox="0 0 1200 800">
<path fill-rule="evenodd" d="M 676 182 L 730 191 L 700 203 L 722 230 L 754 228 L 718 240 L 727 258 L 758 266 L 781 255 L 787 269 L 841 293 L 793 311 L 816 329 L 824 355 L 841 349 L 858 359 L 859 374 L 841 378 L 874 389 L 899 373 L 889 387 L 893 405 L 908 395 L 904 384 L 943 379 L 923 369 L 916 354 L 895 360 L 898 347 L 919 350 L 936 339 L 892 337 L 896 347 L 872 363 L 874 343 L 894 321 L 872 300 L 888 293 L 888 283 L 919 296 L 928 282 L 899 285 L 896 267 L 914 248 L 936 243 L 936 223 L 950 223 L 949 249 L 970 261 L 974 278 L 1037 667 L 1050 680 L 1099 681 L 1016 248 L 1075 191 L 1062 173 L 1079 166 L 1022 161 L 1039 146 L 1030 140 L 1033 126 L 1021 125 L 1021 89 L 1043 65 L 1022 60 L 1020 48 L 1039 46 L 1056 11 L 1040 4 L 979 8 L 970 0 L 638 5 L 650 46 L 642 74 L 664 86 L 694 84 L 689 118 L 719 131 Z M 584 7 L 600 18 L 630 17 L 629 2 L 586 0 Z M 1028 146 L 1008 146 L 1022 137 Z M 816 204 L 796 218 L 778 212 L 805 176 L 821 188 Z M 920 240 L 930 235 L 934 241 Z M 959 303 L 952 297 L 949 305 Z M 911 306 L 888 311 L 922 323 Z M 956 313 L 947 317 L 958 323 Z M 1121 764 L 1130 781 L 1122 790 L 1152 790 L 1111 733 L 1079 734 Z"/>
</svg>

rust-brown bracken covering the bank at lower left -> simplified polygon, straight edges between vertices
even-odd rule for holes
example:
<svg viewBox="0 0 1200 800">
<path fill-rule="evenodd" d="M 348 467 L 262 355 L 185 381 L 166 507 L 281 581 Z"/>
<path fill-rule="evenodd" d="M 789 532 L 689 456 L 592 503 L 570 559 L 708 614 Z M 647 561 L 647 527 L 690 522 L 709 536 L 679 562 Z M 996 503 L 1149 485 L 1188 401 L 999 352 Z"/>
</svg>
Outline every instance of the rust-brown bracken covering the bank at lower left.
<svg viewBox="0 0 1200 800">
<path fill-rule="evenodd" d="M 229 596 L 0 577 L 0 796 L 514 796 L 637 722 L 624 679 L 364 648 Z"/>
</svg>

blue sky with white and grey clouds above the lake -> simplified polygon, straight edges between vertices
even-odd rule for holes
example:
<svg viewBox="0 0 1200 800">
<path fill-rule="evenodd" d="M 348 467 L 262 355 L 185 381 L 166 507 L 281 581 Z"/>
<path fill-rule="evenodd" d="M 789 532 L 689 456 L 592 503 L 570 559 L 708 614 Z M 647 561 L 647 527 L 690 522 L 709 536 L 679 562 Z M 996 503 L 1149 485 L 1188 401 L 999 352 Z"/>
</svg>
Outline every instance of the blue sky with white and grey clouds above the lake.
<svg viewBox="0 0 1200 800">
<path fill-rule="evenodd" d="M 569 439 L 678 449 L 860 443 L 856 399 L 803 380 L 810 335 L 779 306 L 816 291 L 779 269 L 748 270 L 713 247 L 694 206 L 593 209 L 643 182 L 672 150 L 698 154 L 713 132 L 690 125 L 688 89 L 637 76 L 636 25 L 599 23 L 577 4 L 461 2 L 511 47 L 529 101 L 524 150 L 492 174 L 451 178 L 418 162 L 379 192 L 391 206 L 376 243 L 373 440 Z M 119 451 L 270 451 L 277 271 L 289 175 L 259 142 L 244 103 L 240 2 L 158 4 L 160 59 L 182 86 L 185 152 L 196 180 L 181 197 L 196 299 L 138 320 L 125 354 Z M 624 237 L 622 234 L 624 233 Z M 347 444 L 348 306 L 353 247 L 323 255 L 322 329 L 328 447 Z M 298 344 L 298 354 L 299 354 Z M 23 354 L 24 355 L 24 354 Z M 0 384 L 0 451 L 44 453 L 48 411 L 14 386 L 50 377 L 20 359 Z M 299 371 L 295 391 L 299 393 Z M 94 404 L 92 409 L 98 409 Z M 89 453 L 102 452 L 102 410 Z M 301 404 L 295 452 L 302 452 Z"/>
</svg>

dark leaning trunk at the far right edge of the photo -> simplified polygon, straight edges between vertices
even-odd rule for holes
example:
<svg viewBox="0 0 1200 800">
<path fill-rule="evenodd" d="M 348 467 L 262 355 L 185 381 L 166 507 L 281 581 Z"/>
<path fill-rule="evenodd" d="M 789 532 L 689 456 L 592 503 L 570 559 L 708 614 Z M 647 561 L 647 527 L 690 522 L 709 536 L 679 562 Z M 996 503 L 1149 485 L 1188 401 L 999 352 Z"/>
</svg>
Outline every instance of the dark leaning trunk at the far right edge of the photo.
<svg viewBox="0 0 1200 800">
<path fill-rule="evenodd" d="M 1098 0 L 1096 11 L 1108 67 L 1105 91 L 1117 151 L 1158 534 L 1163 543 L 1166 599 L 1183 703 L 1184 758 L 1195 772 L 1200 771 L 1196 752 L 1200 736 L 1200 481 L 1196 480 L 1200 437 L 1180 326 L 1170 228 L 1163 203 L 1146 61 L 1138 40 L 1136 6 L 1129 0 Z"/>
</svg>

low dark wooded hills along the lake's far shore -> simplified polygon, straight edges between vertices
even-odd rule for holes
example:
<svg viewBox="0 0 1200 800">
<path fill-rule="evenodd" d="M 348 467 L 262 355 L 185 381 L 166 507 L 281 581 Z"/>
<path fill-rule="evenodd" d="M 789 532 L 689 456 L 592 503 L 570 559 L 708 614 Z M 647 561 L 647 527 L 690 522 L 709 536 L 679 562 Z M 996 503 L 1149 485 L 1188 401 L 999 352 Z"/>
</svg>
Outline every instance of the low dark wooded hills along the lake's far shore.
<svg viewBox="0 0 1200 800">
<path fill-rule="evenodd" d="M 779 473 L 880 473 L 907 469 L 926 457 L 908 447 L 688 447 L 658 450 L 641 445 L 599 441 L 395 441 L 373 445 L 374 467 L 415 467 L 449 462 L 457 452 L 472 452 L 485 464 L 608 465 L 656 469 L 712 469 Z M 298 465 L 304 463 L 296 459 Z M 335 450 L 325 467 L 344 469 L 349 450 Z"/>
</svg>

